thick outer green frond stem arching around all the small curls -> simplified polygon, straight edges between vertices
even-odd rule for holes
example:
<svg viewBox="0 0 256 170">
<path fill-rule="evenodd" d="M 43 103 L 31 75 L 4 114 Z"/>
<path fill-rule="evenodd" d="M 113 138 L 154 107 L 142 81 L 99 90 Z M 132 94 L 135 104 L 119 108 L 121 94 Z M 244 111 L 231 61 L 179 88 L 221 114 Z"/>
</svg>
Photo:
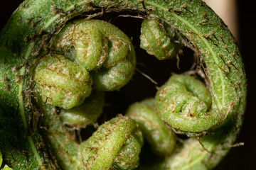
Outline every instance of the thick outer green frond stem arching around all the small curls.
<svg viewBox="0 0 256 170">
<path fill-rule="evenodd" d="M 70 18 L 92 11 L 95 6 L 117 11 L 151 11 L 179 30 L 198 50 L 206 64 L 213 109 L 223 116 L 221 122 L 225 125 L 218 128 L 215 135 L 201 138 L 210 152 L 203 150 L 196 140 L 195 148 L 201 149 L 199 154 L 202 157 L 183 157 L 176 160 L 176 164 L 179 162 L 178 166 L 184 169 L 213 168 L 228 152 L 240 131 L 245 112 L 246 81 L 242 58 L 233 36 L 223 21 L 198 0 L 24 1 L 0 35 L 0 149 L 6 164 L 14 169 L 56 168 L 56 162 L 49 158 L 38 135 L 37 122 L 41 114 L 31 105 L 29 92 L 33 81 L 30 81 L 29 66 L 39 53 L 46 52 L 43 47 L 47 46 L 53 33 L 58 32 Z M 170 159 L 175 160 L 175 157 Z M 193 164 L 188 164 L 189 161 Z M 172 162 L 166 160 L 164 166 L 172 167 Z"/>
</svg>

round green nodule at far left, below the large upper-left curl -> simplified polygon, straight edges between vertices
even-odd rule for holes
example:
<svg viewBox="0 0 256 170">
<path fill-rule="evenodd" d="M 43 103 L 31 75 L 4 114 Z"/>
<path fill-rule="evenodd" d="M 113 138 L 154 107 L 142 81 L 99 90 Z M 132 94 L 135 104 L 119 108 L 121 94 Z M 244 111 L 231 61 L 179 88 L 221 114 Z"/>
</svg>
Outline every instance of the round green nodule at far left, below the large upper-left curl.
<svg viewBox="0 0 256 170">
<path fill-rule="evenodd" d="M 73 108 L 92 91 L 92 79 L 86 69 L 62 55 L 41 58 L 34 72 L 36 91 L 52 106 Z"/>
</svg>

